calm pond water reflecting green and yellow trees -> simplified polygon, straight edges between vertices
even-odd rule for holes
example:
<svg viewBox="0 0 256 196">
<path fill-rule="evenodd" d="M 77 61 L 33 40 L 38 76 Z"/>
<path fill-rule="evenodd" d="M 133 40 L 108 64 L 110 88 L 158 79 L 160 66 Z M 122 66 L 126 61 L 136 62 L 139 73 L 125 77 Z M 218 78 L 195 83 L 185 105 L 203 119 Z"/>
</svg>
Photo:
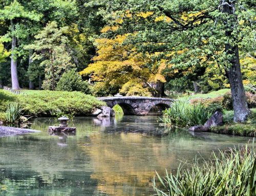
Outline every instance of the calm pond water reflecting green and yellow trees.
<svg viewBox="0 0 256 196">
<path fill-rule="evenodd" d="M 36 118 L 40 133 L 0 138 L 0 195 L 152 195 L 155 170 L 245 144 L 248 137 L 159 127 L 157 116 L 77 117 L 76 135 L 49 135 L 58 123 Z"/>
</svg>

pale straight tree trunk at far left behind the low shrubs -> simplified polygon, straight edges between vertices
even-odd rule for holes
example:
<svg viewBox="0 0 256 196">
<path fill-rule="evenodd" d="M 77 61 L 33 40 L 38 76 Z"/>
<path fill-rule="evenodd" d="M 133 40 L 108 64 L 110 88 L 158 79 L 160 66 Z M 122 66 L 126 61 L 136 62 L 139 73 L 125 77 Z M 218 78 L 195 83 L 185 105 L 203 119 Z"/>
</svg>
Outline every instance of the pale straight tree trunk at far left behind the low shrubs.
<svg viewBox="0 0 256 196">
<path fill-rule="evenodd" d="M 16 36 L 12 36 L 12 56 L 11 56 L 11 78 L 12 78 L 12 89 L 19 90 L 18 84 L 18 72 L 17 72 L 17 59 L 14 54 L 16 47 Z"/>
</svg>

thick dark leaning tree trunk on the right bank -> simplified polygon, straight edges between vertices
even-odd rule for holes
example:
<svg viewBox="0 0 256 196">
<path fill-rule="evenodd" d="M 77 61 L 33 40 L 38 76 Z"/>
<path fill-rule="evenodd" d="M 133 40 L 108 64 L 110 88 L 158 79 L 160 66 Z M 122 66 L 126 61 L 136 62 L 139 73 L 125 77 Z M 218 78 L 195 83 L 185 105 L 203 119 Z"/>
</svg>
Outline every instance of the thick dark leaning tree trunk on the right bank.
<svg viewBox="0 0 256 196">
<path fill-rule="evenodd" d="M 225 35 L 229 40 L 236 41 L 236 37 L 232 35 L 233 31 L 236 31 L 236 25 L 238 23 L 237 16 L 235 15 L 235 1 L 230 0 L 222 0 L 221 6 L 223 13 L 228 13 L 232 15 L 229 19 L 225 21 L 226 24 L 226 32 Z M 234 121 L 235 122 L 242 122 L 246 120 L 246 117 L 250 113 L 250 110 L 247 105 L 245 90 L 242 82 L 242 74 L 240 68 L 240 61 L 239 61 L 239 51 L 238 45 L 230 43 L 225 44 L 225 53 L 227 56 L 232 55 L 232 58 L 229 58 L 228 61 L 230 66 L 227 67 L 227 76 L 229 79 L 230 89 L 231 89 L 231 96 L 233 101 L 233 110 L 234 110 Z"/>
</svg>

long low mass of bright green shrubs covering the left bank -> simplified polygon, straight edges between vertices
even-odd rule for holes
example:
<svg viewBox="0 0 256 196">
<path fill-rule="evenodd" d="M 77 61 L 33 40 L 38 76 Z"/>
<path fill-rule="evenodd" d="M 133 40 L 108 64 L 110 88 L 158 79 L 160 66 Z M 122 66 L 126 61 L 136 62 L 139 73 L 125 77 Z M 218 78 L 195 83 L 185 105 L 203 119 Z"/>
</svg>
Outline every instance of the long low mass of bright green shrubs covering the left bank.
<svg viewBox="0 0 256 196">
<path fill-rule="evenodd" d="M 90 115 L 94 108 L 105 105 L 94 96 L 81 92 L 23 90 L 21 94 L 14 94 L 0 90 L 0 117 L 4 116 L 9 103 L 20 103 L 24 115 L 31 116 Z"/>
</svg>

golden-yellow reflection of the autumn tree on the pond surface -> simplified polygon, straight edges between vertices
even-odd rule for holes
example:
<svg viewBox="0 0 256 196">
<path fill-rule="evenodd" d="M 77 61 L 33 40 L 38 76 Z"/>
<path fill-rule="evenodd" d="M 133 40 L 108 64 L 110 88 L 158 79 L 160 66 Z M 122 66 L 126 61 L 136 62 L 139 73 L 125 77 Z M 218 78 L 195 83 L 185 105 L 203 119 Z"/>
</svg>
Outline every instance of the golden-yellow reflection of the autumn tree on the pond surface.
<svg viewBox="0 0 256 196">
<path fill-rule="evenodd" d="M 177 160 L 182 159 L 177 149 L 184 144 L 192 149 L 193 142 L 189 139 L 193 136 L 179 131 L 162 137 L 122 131 L 91 135 L 91 144 L 80 144 L 80 148 L 90 154 L 91 163 L 95 165 L 91 178 L 98 179 L 98 191 L 110 195 L 147 195 L 145 190 L 152 187 L 155 170 L 161 173 L 165 168 L 176 169 Z M 187 151 L 182 156 L 185 158 L 188 154 Z M 140 190 L 142 192 L 138 192 Z"/>
</svg>

